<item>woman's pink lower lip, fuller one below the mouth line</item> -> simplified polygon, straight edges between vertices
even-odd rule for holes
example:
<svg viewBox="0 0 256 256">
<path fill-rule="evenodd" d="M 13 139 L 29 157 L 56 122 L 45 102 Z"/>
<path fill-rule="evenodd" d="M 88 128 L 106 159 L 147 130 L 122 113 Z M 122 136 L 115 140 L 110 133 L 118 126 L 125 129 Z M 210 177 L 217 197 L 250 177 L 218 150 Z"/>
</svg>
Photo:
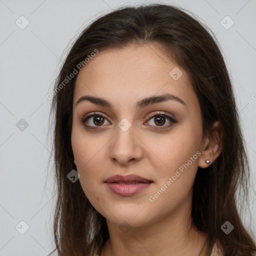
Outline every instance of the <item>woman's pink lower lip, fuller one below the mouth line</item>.
<svg viewBox="0 0 256 256">
<path fill-rule="evenodd" d="M 133 194 L 136 194 L 136 193 L 144 190 L 151 183 L 152 182 L 147 182 L 147 183 L 138 182 L 135 184 L 118 184 L 118 183 L 106 182 L 106 185 L 112 192 L 114 192 L 116 194 L 123 195 L 123 196 L 129 196 L 129 195 L 133 195 Z"/>
</svg>

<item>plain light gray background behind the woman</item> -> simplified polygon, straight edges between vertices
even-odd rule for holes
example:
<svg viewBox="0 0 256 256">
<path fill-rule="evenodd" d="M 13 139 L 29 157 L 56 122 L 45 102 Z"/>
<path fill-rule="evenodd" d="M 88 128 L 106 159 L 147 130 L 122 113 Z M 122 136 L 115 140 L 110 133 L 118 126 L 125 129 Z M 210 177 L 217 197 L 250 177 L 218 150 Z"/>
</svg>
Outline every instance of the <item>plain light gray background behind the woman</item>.
<svg viewBox="0 0 256 256">
<path fill-rule="evenodd" d="M 0 255 L 47 255 L 53 248 L 52 175 L 46 179 L 52 144 L 50 138 L 46 141 L 50 106 L 46 94 L 51 91 L 61 59 L 66 55 L 63 52 L 95 17 L 119 5 L 141 2 L 0 0 Z M 216 34 L 232 75 L 250 160 L 251 182 L 255 183 L 256 1 L 161 2 L 192 11 Z M 21 15 L 29 21 L 24 29 L 15 23 Z M 220 23 L 226 15 L 234 21 L 229 29 Z M 28 123 L 23 131 L 16 127 L 21 118 Z M 252 191 L 253 187 L 249 208 L 256 233 L 256 197 Z M 21 220 L 29 226 L 24 234 L 15 228 Z M 245 225 L 248 220 L 246 215 Z M 24 228 L 22 224 L 22 228 L 18 226 L 19 230 Z"/>
</svg>

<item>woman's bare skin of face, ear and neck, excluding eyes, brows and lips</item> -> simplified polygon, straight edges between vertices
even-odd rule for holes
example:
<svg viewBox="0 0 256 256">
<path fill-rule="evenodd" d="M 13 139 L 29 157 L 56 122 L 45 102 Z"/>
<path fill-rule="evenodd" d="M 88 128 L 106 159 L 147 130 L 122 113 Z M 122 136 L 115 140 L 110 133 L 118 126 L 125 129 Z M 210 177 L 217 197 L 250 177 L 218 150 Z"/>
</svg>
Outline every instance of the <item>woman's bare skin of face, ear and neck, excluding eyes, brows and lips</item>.
<svg viewBox="0 0 256 256">
<path fill-rule="evenodd" d="M 183 73 L 177 80 L 169 75 L 174 67 Z M 168 100 L 135 108 L 138 100 L 164 93 L 178 96 L 185 105 Z M 83 95 L 104 98 L 113 108 L 87 100 L 76 105 Z M 81 120 L 94 111 L 105 118 L 97 126 L 91 117 L 87 124 L 96 129 L 86 129 Z M 177 122 L 168 126 L 170 121 L 165 118 L 161 126 L 154 117 L 149 119 L 157 112 L 165 112 Z M 131 124 L 126 131 L 118 126 L 123 118 Z M 162 129 L 154 129 L 157 127 Z M 192 185 L 197 167 L 207 167 L 205 160 L 213 162 L 221 152 L 220 124 L 215 122 L 212 128 L 214 136 L 203 137 L 199 102 L 187 73 L 166 60 L 154 45 L 99 51 L 79 71 L 71 144 L 82 189 L 107 221 L 110 239 L 100 256 L 199 254 L 205 235 L 190 228 Z M 200 156 L 158 198 L 149 201 L 197 151 Z M 153 183 L 135 195 L 120 196 L 104 183 L 114 174 L 137 174 Z"/>
</svg>

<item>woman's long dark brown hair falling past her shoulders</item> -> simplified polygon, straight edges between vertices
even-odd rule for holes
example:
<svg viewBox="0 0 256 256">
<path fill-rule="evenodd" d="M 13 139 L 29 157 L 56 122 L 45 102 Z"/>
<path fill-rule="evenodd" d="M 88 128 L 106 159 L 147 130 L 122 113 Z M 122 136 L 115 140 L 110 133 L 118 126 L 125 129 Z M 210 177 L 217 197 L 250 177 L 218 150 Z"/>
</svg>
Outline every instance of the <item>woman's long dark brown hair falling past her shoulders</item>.
<svg viewBox="0 0 256 256">
<path fill-rule="evenodd" d="M 94 51 L 134 44 L 155 44 L 189 76 L 202 113 L 203 133 L 219 120 L 222 151 L 207 167 L 198 167 L 193 185 L 192 223 L 207 234 L 207 252 L 214 242 L 223 255 L 252 255 L 256 245 L 245 229 L 237 205 L 248 204 L 249 166 L 229 73 L 213 32 L 187 10 L 165 4 L 122 6 L 94 20 L 69 50 L 52 93 L 56 205 L 54 241 L 58 255 L 99 254 L 109 238 L 105 218 L 86 198 L 80 182 L 70 182 L 75 169 L 71 148 L 72 104 L 77 65 Z M 192 17 L 194 16 L 194 17 Z M 83 62 L 82 62 L 83 61 Z M 65 83 L 63 83 L 65 81 Z M 62 86 L 60 84 L 62 83 Z M 240 195 L 240 197 L 236 197 Z M 226 234 L 221 225 L 234 229 Z"/>
</svg>

